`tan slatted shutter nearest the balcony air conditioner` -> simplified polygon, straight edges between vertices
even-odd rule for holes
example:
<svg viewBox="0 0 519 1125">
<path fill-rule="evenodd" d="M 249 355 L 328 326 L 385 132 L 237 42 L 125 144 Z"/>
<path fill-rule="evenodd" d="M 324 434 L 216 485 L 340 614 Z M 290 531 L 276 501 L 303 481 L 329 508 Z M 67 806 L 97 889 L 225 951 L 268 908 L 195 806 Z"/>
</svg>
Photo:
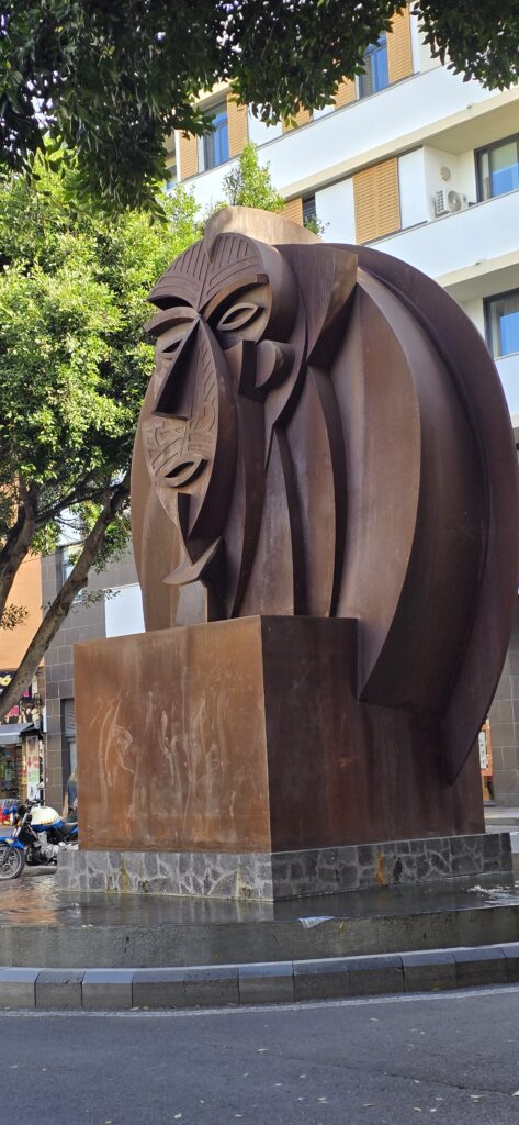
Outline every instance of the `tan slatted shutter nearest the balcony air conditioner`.
<svg viewBox="0 0 519 1125">
<path fill-rule="evenodd" d="M 357 242 L 372 242 L 400 228 L 398 160 L 385 160 L 353 178 Z"/>
</svg>

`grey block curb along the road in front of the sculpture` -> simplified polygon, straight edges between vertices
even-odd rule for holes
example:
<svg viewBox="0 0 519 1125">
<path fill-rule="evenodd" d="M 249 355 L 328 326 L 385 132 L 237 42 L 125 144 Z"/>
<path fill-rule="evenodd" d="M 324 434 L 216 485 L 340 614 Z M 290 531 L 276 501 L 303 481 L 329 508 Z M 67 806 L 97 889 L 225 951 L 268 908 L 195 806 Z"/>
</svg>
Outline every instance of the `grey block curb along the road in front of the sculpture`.
<svg viewBox="0 0 519 1125">
<path fill-rule="evenodd" d="M 236 1007 L 519 982 L 519 943 L 185 969 L 0 969 L 0 1009 Z"/>
</svg>

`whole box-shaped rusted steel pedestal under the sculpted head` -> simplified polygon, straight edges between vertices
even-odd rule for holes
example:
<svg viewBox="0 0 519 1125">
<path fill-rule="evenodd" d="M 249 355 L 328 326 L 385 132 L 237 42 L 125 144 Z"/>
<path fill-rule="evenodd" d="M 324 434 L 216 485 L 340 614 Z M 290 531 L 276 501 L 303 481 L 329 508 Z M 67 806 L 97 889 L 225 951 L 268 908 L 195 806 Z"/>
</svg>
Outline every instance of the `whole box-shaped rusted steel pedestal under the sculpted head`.
<svg viewBox="0 0 519 1125">
<path fill-rule="evenodd" d="M 85 848 L 254 852 L 483 831 L 474 756 L 355 699 L 356 622 L 246 618 L 76 648 Z"/>
</svg>

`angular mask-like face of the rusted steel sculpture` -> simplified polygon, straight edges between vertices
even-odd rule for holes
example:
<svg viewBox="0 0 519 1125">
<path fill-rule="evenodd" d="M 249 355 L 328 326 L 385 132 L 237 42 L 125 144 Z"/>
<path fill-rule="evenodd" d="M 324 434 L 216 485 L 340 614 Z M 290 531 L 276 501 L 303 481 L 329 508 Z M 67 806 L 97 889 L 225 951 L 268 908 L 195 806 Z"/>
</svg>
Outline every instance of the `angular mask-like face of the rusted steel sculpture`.
<svg viewBox="0 0 519 1125">
<path fill-rule="evenodd" d="M 343 256 L 353 274 L 353 255 Z M 156 338 L 156 366 L 142 434 L 153 487 L 183 547 L 180 565 L 164 580 L 209 582 L 226 546 L 229 561 L 233 518 L 239 520 L 233 512 L 237 477 L 247 494 L 247 536 L 243 557 L 235 558 L 239 573 L 230 588 L 219 591 L 217 615 L 231 613 L 243 592 L 273 428 L 293 408 L 307 358 L 308 318 L 289 258 L 251 237 L 220 234 L 210 250 L 206 241 L 190 248 L 151 296 L 161 310 L 147 324 Z M 326 312 L 328 300 L 322 321 Z M 234 547 L 236 555 L 240 548 Z"/>
</svg>

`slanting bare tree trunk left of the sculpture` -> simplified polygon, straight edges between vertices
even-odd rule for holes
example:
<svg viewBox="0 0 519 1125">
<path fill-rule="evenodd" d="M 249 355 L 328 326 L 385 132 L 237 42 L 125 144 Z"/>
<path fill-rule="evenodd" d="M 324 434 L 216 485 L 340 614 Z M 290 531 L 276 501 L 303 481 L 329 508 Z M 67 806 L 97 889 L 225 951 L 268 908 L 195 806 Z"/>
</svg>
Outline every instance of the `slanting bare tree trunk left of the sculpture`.
<svg viewBox="0 0 519 1125">
<path fill-rule="evenodd" d="M 101 512 L 83 543 L 81 555 L 74 568 L 47 610 L 10 684 L 0 694 L 1 716 L 6 716 L 11 708 L 19 703 L 26 687 L 36 674 L 51 641 L 54 640 L 60 626 L 63 624 L 74 597 L 85 586 L 90 567 L 94 562 L 98 551 L 103 543 L 107 529 L 117 513 L 125 506 L 128 496 L 129 475 L 127 474 L 115 492 L 107 496 Z"/>
</svg>

